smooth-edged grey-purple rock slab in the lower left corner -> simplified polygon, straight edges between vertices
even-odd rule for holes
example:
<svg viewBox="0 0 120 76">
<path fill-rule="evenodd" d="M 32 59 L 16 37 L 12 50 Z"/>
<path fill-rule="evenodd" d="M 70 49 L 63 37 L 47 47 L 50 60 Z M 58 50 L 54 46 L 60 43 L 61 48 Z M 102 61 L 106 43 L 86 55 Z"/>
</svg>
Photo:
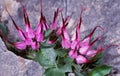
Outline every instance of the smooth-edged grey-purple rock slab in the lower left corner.
<svg viewBox="0 0 120 76">
<path fill-rule="evenodd" d="M 0 76 L 42 76 L 39 63 L 16 56 L 0 38 Z"/>
</svg>

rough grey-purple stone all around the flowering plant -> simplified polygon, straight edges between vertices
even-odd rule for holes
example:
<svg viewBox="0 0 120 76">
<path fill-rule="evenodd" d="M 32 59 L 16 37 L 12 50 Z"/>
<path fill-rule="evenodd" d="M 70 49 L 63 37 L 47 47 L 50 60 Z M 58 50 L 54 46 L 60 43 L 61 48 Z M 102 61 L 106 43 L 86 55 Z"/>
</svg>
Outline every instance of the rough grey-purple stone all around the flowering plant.
<svg viewBox="0 0 120 76">
<path fill-rule="evenodd" d="M 8 8 L 10 14 L 15 19 L 19 27 L 24 29 L 23 13 L 20 6 L 20 0 L 0 0 L 0 18 L 6 22 L 9 27 L 8 38 L 17 39 L 16 30 L 8 17 L 4 6 Z M 36 26 L 40 15 L 39 0 L 23 0 L 32 26 Z M 75 24 L 80 16 L 82 7 L 86 8 L 83 13 L 82 36 L 87 34 L 92 28 L 101 25 L 105 28 L 103 39 L 99 44 L 120 44 L 120 0 L 43 0 L 43 13 L 50 24 L 53 19 L 54 11 L 63 8 L 63 15 L 71 17 L 68 31 L 73 34 Z M 59 17 L 60 24 L 60 17 Z M 100 31 L 95 36 L 101 34 Z M 8 51 L 0 39 L 0 76 L 41 76 L 43 69 L 38 63 L 23 59 Z M 99 45 L 96 43 L 96 46 Z M 120 76 L 120 49 L 111 47 L 105 50 L 104 64 L 114 67 L 111 76 Z"/>
</svg>

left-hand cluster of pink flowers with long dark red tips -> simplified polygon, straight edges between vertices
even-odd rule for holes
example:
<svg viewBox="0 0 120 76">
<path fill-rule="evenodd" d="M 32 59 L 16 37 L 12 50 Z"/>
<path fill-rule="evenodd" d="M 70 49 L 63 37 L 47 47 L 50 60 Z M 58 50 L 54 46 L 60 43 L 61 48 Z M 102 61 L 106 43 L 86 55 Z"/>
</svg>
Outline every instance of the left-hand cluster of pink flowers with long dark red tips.
<svg viewBox="0 0 120 76">
<path fill-rule="evenodd" d="M 22 4 L 21 4 L 22 5 Z M 16 48 L 20 49 L 20 50 L 24 50 L 26 49 L 27 46 L 31 46 L 32 49 L 37 50 L 40 47 L 40 42 L 43 41 L 44 36 L 43 36 L 43 26 L 46 27 L 46 20 L 45 17 L 42 15 L 42 10 L 41 10 L 41 18 L 40 18 L 40 22 L 38 24 L 38 26 L 33 30 L 30 26 L 30 22 L 29 22 L 29 18 L 28 18 L 28 14 L 26 12 L 25 7 L 22 5 L 23 8 L 23 13 L 24 13 L 24 21 L 25 21 L 25 31 L 21 30 L 17 24 L 15 23 L 14 19 L 12 18 L 12 16 L 9 14 L 15 28 L 18 31 L 18 35 L 19 37 L 22 39 L 21 42 L 17 42 L 15 44 L 12 44 L 13 46 L 15 46 Z M 7 10 L 7 9 L 6 9 Z M 47 27 L 45 28 L 47 29 Z"/>
</svg>

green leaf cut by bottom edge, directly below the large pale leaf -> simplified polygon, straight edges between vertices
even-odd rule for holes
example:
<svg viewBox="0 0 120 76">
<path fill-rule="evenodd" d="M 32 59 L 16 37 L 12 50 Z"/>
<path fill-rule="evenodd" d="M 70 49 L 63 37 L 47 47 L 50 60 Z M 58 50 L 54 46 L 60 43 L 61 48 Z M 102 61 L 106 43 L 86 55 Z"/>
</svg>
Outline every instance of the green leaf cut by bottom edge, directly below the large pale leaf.
<svg viewBox="0 0 120 76">
<path fill-rule="evenodd" d="M 65 76 L 65 73 L 58 68 L 47 69 L 44 73 L 45 76 Z"/>
</svg>

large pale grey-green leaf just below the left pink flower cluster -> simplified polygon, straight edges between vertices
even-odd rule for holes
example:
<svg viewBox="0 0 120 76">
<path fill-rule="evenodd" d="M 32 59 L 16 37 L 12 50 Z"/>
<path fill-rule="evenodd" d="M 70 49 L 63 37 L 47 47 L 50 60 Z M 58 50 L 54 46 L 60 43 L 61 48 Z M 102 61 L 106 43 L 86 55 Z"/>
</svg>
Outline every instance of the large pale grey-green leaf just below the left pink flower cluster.
<svg viewBox="0 0 120 76">
<path fill-rule="evenodd" d="M 44 48 L 37 53 L 36 60 L 43 67 L 50 68 L 56 65 L 56 56 L 53 48 Z"/>
</svg>

